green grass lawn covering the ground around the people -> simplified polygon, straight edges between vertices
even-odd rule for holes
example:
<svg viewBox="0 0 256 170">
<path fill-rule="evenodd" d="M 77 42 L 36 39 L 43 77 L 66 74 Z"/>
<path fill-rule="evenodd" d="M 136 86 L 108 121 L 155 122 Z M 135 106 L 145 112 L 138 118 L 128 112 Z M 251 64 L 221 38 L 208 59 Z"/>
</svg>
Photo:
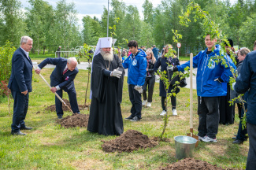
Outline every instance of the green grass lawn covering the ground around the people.
<svg viewBox="0 0 256 170">
<path fill-rule="evenodd" d="M 52 68 L 44 68 L 43 76 L 50 82 Z M 183 88 L 177 95 L 178 116 L 170 116 L 166 127 L 166 137 L 170 142 L 159 142 L 158 146 L 132 153 L 105 153 L 102 140 L 115 139 L 117 136 L 97 135 L 87 128 L 62 128 L 56 123 L 56 113 L 46 111 L 48 105 L 54 105 L 54 94 L 38 75 L 33 73 L 26 125 L 34 127 L 32 131 L 23 131 L 26 136 L 11 135 L 12 116 L 8 115 L 7 99 L 0 98 L 0 169 L 156 169 L 165 164 L 176 162 L 173 137 L 189 132 L 189 89 Z M 131 103 L 128 98 L 127 78 L 124 79 L 123 117 L 129 116 Z M 87 71 L 80 70 L 76 76 L 76 92 L 80 105 L 83 105 L 87 83 Z M 152 107 L 143 107 L 143 119 L 139 122 L 124 120 L 124 131 L 133 129 L 144 135 L 161 135 L 163 125 L 161 98 L 158 83 L 154 87 Z M 194 128 L 197 133 L 197 96 L 194 91 Z M 64 93 L 64 98 L 68 95 Z M 12 106 L 13 107 L 13 100 Z M 11 109 L 13 110 L 13 108 Z M 38 113 L 39 112 L 39 113 Z M 81 113 L 88 114 L 87 110 Z M 64 116 L 71 115 L 65 112 Z M 238 129 L 239 118 L 235 124 L 219 126 L 216 143 L 199 142 L 194 158 L 217 164 L 222 168 L 245 168 L 249 142 L 243 145 L 232 144 L 233 134 Z"/>
</svg>

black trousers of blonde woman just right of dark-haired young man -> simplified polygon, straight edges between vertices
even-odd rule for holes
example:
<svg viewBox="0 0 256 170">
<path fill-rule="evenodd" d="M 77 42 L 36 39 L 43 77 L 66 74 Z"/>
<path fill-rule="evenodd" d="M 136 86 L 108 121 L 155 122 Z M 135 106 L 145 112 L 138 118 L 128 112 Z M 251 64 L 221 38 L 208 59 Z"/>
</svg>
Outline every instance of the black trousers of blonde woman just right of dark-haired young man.
<svg viewBox="0 0 256 170">
<path fill-rule="evenodd" d="M 155 76 L 146 77 L 145 83 L 143 85 L 143 100 L 147 102 L 152 102 L 153 92 L 154 92 Z M 148 87 L 148 98 L 147 98 L 147 87 Z"/>
</svg>

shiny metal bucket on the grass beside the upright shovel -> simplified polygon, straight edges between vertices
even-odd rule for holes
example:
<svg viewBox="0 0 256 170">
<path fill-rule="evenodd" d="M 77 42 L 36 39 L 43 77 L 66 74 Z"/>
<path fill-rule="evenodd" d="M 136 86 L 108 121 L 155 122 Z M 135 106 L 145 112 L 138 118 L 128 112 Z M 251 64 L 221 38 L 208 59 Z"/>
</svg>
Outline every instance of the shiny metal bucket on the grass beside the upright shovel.
<svg viewBox="0 0 256 170">
<path fill-rule="evenodd" d="M 184 157 L 193 157 L 193 151 L 195 149 L 195 143 L 197 140 L 190 136 L 175 136 L 175 150 L 176 150 L 176 158 L 178 160 Z"/>
</svg>

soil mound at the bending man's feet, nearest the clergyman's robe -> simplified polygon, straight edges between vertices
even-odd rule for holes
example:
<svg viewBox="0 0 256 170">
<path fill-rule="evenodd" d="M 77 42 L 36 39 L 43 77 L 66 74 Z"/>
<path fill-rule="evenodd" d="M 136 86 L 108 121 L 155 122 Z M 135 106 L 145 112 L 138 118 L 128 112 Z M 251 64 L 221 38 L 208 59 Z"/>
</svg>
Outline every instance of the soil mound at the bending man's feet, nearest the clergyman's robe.
<svg viewBox="0 0 256 170">
<path fill-rule="evenodd" d="M 61 127 L 87 127 L 89 115 L 88 114 L 73 114 L 72 116 L 66 116 L 60 120 Z"/>
</svg>

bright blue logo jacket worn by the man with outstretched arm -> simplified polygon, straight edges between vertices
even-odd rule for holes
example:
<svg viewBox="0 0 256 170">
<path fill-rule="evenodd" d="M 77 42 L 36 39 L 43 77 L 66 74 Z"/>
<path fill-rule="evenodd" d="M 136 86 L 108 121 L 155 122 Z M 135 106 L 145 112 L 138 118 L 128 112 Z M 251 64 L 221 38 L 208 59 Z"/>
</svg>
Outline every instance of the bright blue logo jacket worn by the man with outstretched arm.
<svg viewBox="0 0 256 170">
<path fill-rule="evenodd" d="M 217 97 L 225 96 L 227 91 L 224 90 L 222 84 L 214 79 L 221 78 L 224 83 L 228 83 L 229 78 L 232 77 L 232 72 L 228 65 L 216 64 L 213 57 L 220 55 L 221 46 L 216 45 L 215 50 L 210 54 L 206 54 L 206 50 L 200 51 L 193 57 L 193 68 L 197 69 L 196 74 L 196 89 L 198 96 L 201 97 Z M 227 62 L 226 56 L 224 57 Z M 184 68 L 190 67 L 190 61 L 183 65 L 178 65 L 178 71 L 184 72 Z M 236 69 L 236 68 L 235 68 Z"/>
</svg>

